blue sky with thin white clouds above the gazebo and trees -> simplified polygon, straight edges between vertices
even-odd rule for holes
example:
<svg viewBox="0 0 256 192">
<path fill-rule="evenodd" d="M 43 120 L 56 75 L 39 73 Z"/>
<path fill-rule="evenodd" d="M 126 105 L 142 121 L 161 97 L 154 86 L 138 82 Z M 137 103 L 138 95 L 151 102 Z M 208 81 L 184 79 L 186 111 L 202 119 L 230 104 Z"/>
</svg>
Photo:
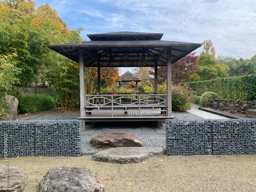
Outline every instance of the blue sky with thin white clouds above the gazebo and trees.
<svg viewBox="0 0 256 192">
<path fill-rule="evenodd" d="M 70 30 L 163 33 L 162 40 L 202 43 L 216 56 L 250 59 L 256 54 L 255 0 L 34 0 L 48 3 Z M 202 48 L 196 50 L 199 54 Z M 120 75 L 125 69 L 120 69 Z"/>
</svg>

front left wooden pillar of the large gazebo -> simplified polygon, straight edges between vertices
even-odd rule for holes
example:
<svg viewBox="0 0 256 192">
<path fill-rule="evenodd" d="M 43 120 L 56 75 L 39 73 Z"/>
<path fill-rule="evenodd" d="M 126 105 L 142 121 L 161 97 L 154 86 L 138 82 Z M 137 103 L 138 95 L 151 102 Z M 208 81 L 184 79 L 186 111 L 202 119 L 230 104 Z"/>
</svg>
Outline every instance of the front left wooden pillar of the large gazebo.
<svg viewBox="0 0 256 192">
<path fill-rule="evenodd" d="M 80 81 L 80 117 L 86 117 L 84 109 L 85 90 L 84 90 L 84 65 L 83 65 L 83 49 L 79 48 L 79 81 Z M 86 124 L 82 120 L 82 131 L 86 131 Z"/>
</svg>

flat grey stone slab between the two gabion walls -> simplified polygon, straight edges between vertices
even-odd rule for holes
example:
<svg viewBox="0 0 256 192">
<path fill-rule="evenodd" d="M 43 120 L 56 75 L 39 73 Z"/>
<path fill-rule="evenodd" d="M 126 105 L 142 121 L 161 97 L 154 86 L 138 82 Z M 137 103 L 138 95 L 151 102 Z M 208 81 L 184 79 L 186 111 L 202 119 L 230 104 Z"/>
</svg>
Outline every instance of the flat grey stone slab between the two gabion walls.
<svg viewBox="0 0 256 192">
<path fill-rule="evenodd" d="M 92 160 L 110 163 L 138 163 L 165 155 L 165 153 L 165 149 L 160 147 L 117 147 L 96 153 Z"/>
</svg>

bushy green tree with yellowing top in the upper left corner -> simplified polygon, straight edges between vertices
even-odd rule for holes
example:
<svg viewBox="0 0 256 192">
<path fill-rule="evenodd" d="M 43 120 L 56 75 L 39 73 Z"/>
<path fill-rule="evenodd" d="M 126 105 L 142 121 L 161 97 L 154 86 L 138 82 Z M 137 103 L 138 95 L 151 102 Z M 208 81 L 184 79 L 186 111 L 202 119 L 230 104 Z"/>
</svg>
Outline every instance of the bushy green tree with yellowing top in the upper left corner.
<svg viewBox="0 0 256 192">
<path fill-rule="evenodd" d="M 32 1 L 0 2 L 0 52 L 16 54 L 19 87 L 25 87 L 35 79 L 35 74 L 48 52 L 46 40 L 31 20 L 35 18 Z"/>
</svg>

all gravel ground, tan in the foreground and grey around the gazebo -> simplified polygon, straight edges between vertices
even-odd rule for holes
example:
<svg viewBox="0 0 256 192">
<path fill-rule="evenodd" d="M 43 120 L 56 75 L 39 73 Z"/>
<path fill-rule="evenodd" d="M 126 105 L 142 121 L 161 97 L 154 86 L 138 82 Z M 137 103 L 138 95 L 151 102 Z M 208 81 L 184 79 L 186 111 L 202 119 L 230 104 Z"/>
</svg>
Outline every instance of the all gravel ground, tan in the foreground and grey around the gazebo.
<svg viewBox="0 0 256 192">
<path fill-rule="evenodd" d="M 189 113 L 173 113 L 177 119 L 202 119 Z M 25 115 L 26 117 L 29 115 Z M 56 112 L 34 117 L 39 119 L 76 119 L 79 114 Z M 24 118 L 24 119 L 23 119 Z M 20 117 L 20 120 L 26 120 Z M 110 130 L 136 134 L 147 146 L 165 147 L 165 135 L 156 134 L 158 122 L 91 123 L 98 130 L 94 135 Z M 94 149 L 89 140 L 94 135 L 82 136 L 83 152 Z M 4 161 L 0 160 L 0 165 Z M 24 192 L 38 191 L 46 170 L 54 166 L 88 167 L 96 173 L 105 191 L 256 191 L 255 155 L 195 155 L 161 156 L 140 163 L 117 164 L 95 162 L 91 155 L 81 157 L 19 157 L 9 158 L 8 164 L 17 167 L 26 181 Z"/>
</svg>

